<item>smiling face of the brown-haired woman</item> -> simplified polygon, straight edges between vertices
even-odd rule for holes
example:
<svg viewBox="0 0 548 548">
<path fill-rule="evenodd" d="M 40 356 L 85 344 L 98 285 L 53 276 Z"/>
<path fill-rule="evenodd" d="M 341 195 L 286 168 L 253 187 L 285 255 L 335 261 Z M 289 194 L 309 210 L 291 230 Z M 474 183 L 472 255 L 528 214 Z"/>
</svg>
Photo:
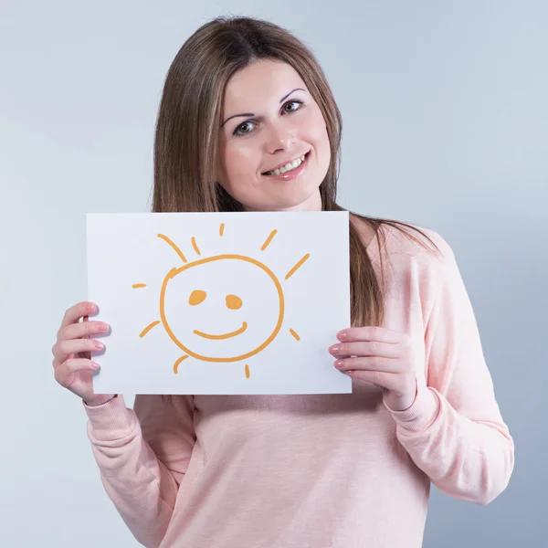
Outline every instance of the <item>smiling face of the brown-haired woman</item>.
<svg viewBox="0 0 548 548">
<path fill-rule="evenodd" d="M 294 68 L 259 60 L 228 81 L 217 181 L 245 209 L 320 210 L 330 159 L 320 108 Z"/>
</svg>

